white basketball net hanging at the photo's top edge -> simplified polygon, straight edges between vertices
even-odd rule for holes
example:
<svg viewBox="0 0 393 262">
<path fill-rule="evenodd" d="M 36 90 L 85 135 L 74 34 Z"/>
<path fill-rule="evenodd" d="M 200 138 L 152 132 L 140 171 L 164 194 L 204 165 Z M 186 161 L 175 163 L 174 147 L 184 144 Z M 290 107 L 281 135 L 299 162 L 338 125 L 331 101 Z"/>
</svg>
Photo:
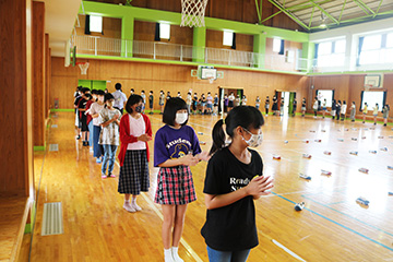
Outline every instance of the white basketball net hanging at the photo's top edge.
<svg viewBox="0 0 393 262">
<path fill-rule="evenodd" d="M 207 0 L 181 0 L 180 26 L 203 27 Z"/>
</svg>

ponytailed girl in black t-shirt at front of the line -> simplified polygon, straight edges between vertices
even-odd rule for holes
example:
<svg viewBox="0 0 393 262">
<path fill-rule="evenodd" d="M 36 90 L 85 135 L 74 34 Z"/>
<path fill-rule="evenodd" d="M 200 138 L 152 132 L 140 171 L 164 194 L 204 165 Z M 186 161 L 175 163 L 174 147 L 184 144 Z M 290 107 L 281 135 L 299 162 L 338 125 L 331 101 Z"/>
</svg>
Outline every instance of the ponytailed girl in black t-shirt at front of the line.
<svg viewBox="0 0 393 262">
<path fill-rule="evenodd" d="M 263 163 L 257 151 L 262 142 L 264 120 L 252 106 L 238 106 L 225 120 L 230 144 L 225 146 L 224 121 L 213 128 L 213 155 L 207 164 L 203 192 L 207 207 L 201 230 L 207 245 L 210 262 L 246 261 L 258 246 L 253 200 L 273 188 L 263 176 Z"/>
</svg>

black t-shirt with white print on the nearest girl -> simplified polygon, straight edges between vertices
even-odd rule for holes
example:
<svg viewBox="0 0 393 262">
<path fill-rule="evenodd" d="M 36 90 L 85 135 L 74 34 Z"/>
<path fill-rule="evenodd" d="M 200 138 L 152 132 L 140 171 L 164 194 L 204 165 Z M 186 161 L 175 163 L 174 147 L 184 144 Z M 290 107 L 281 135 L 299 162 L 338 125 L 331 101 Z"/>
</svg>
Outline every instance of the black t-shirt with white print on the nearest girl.
<svg viewBox="0 0 393 262">
<path fill-rule="evenodd" d="M 228 147 L 216 152 L 207 164 L 203 192 L 226 194 L 246 187 L 254 176 L 262 175 L 261 156 L 253 150 L 251 163 L 237 159 Z M 206 245 L 219 251 L 239 251 L 258 246 L 253 198 L 246 196 L 219 209 L 207 210 L 201 230 Z"/>
</svg>

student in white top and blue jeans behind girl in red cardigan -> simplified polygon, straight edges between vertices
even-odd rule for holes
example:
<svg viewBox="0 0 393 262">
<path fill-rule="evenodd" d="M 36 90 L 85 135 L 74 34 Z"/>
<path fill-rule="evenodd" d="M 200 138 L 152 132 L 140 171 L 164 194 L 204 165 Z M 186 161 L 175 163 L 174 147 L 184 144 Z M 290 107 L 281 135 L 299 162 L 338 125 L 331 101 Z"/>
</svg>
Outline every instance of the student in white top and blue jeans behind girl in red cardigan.
<svg viewBox="0 0 393 262">
<path fill-rule="evenodd" d="M 116 150 L 119 145 L 119 118 L 121 112 L 114 108 L 115 97 L 108 93 L 104 96 L 104 109 L 99 112 L 102 132 L 98 144 L 104 147 L 104 160 L 102 165 L 102 178 L 116 177 L 112 171 L 115 167 Z M 106 175 L 108 166 L 108 176 Z"/>
</svg>

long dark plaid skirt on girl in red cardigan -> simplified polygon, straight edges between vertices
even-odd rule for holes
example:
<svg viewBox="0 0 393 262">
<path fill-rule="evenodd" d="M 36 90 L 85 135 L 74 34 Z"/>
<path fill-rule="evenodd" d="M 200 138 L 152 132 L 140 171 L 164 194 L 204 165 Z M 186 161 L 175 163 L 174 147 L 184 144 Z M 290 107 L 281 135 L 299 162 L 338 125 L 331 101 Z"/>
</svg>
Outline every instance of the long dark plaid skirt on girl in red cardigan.
<svg viewBox="0 0 393 262">
<path fill-rule="evenodd" d="M 140 194 L 150 188 L 148 162 L 146 150 L 127 151 L 120 167 L 119 193 Z"/>
</svg>

